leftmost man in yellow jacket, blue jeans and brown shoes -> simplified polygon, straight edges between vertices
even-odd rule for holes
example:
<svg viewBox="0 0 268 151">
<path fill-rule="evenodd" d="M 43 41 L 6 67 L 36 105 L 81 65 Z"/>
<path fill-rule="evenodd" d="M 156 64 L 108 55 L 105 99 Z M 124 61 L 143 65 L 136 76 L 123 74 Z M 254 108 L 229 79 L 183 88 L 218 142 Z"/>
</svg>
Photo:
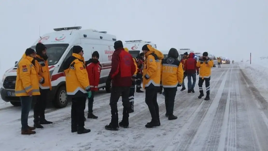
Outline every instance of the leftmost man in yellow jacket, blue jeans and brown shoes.
<svg viewBox="0 0 268 151">
<path fill-rule="evenodd" d="M 40 95 L 38 86 L 38 73 L 35 70 L 36 53 L 28 48 L 18 62 L 15 94 L 21 102 L 21 134 L 35 134 L 35 127 L 28 126 L 29 111 L 34 95 Z"/>
</svg>

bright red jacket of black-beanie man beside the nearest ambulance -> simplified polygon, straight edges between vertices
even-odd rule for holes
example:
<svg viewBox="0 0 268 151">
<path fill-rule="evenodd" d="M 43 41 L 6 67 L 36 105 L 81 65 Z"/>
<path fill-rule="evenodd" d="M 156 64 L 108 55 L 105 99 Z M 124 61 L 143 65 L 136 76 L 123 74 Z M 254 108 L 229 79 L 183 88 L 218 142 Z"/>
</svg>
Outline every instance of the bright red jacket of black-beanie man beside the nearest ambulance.
<svg viewBox="0 0 268 151">
<path fill-rule="evenodd" d="M 100 76 L 101 76 L 100 62 L 98 61 L 95 63 L 93 61 L 90 61 L 90 63 L 87 64 L 87 74 L 88 74 L 88 79 L 89 79 L 90 90 L 98 91 L 99 90 L 98 85 L 99 85 Z"/>
</svg>

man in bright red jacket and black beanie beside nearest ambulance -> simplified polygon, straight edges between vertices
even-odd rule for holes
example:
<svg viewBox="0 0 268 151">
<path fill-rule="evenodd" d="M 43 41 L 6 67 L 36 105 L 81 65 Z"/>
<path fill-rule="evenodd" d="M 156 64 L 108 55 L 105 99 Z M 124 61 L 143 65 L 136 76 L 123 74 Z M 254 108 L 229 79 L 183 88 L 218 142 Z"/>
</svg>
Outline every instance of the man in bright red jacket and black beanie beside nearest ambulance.
<svg viewBox="0 0 268 151">
<path fill-rule="evenodd" d="M 93 114 L 93 102 L 94 102 L 94 94 L 99 90 L 98 85 L 101 76 L 101 64 L 99 62 L 99 53 L 98 51 L 94 51 L 92 53 L 92 58 L 85 62 L 88 79 L 90 80 L 90 90 L 91 97 L 88 99 L 88 119 L 98 119 L 98 116 Z"/>
</svg>

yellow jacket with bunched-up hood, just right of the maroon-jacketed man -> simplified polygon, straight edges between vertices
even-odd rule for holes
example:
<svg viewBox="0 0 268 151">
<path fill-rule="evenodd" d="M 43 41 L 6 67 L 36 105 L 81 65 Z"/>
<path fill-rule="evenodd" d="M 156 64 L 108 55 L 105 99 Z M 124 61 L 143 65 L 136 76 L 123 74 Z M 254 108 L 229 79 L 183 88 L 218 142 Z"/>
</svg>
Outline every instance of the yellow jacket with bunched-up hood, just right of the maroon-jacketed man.
<svg viewBox="0 0 268 151">
<path fill-rule="evenodd" d="M 161 80 L 161 61 L 164 55 L 154 49 L 151 45 L 147 45 L 149 51 L 145 54 L 143 69 L 143 88 L 150 85 L 159 87 Z"/>
</svg>

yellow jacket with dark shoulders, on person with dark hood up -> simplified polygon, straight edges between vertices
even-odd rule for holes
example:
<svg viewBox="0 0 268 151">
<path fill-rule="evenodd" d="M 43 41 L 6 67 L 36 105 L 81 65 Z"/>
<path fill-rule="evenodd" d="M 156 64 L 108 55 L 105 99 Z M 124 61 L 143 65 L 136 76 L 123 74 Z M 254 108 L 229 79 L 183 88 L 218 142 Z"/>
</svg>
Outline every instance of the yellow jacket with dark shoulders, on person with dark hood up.
<svg viewBox="0 0 268 151">
<path fill-rule="evenodd" d="M 177 87 L 183 82 L 182 63 L 174 57 L 168 57 L 162 61 L 162 86 Z"/>
</svg>

